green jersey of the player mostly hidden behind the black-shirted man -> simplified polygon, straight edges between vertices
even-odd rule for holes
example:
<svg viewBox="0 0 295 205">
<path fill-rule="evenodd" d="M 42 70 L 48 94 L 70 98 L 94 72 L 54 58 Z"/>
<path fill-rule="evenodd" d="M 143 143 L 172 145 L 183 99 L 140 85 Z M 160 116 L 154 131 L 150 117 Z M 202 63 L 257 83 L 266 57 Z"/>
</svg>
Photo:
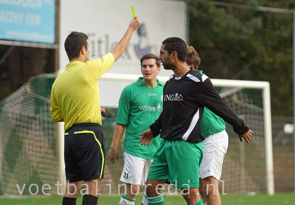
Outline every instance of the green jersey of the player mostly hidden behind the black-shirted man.
<svg viewBox="0 0 295 205">
<path fill-rule="evenodd" d="M 198 72 L 202 75 L 205 75 L 203 71 Z M 225 123 L 222 118 L 218 117 L 216 114 L 204 107 L 201 121 L 201 131 L 204 137 L 208 137 L 211 134 L 221 132 L 224 129 Z"/>
</svg>

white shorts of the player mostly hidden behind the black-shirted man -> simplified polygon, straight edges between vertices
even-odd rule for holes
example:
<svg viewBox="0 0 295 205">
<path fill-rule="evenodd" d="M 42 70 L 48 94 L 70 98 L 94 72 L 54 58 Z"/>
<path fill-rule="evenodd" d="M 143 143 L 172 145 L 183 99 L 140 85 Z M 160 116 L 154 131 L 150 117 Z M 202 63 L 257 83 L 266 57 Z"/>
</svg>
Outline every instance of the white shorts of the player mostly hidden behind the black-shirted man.
<svg viewBox="0 0 295 205">
<path fill-rule="evenodd" d="M 211 134 L 204 140 L 204 154 L 199 168 L 199 177 L 213 176 L 220 180 L 222 162 L 228 147 L 228 135 L 225 130 Z"/>
</svg>

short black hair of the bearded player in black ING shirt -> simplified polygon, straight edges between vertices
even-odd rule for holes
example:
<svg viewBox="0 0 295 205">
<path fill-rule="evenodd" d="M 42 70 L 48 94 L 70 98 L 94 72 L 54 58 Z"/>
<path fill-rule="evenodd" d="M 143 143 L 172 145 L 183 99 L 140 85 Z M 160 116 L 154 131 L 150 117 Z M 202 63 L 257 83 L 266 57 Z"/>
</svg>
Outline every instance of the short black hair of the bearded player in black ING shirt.
<svg viewBox="0 0 295 205">
<path fill-rule="evenodd" d="M 169 54 L 171 54 L 173 51 L 176 51 L 178 60 L 185 61 L 187 56 L 187 44 L 181 38 L 166 38 L 162 44 L 165 46 L 165 50 L 167 50 Z"/>
</svg>

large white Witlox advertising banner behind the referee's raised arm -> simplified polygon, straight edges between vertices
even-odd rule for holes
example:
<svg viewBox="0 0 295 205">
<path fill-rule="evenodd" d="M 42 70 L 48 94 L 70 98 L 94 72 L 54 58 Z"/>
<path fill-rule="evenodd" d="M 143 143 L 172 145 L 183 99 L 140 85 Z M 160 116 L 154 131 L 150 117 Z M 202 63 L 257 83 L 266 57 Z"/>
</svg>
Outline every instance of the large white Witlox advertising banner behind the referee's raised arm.
<svg viewBox="0 0 295 205">
<path fill-rule="evenodd" d="M 140 17 L 140 27 L 133 33 L 123 56 L 108 73 L 141 75 L 140 58 L 147 53 L 159 55 L 162 41 L 167 37 L 187 40 L 186 4 L 167 0 L 62 0 L 60 5 L 60 69 L 69 59 L 64 43 L 71 31 L 83 32 L 90 42 L 90 60 L 112 51 L 123 37 L 132 19 L 131 6 Z M 170 76 L 163 67 L 159 75 Z"/>
</svg>

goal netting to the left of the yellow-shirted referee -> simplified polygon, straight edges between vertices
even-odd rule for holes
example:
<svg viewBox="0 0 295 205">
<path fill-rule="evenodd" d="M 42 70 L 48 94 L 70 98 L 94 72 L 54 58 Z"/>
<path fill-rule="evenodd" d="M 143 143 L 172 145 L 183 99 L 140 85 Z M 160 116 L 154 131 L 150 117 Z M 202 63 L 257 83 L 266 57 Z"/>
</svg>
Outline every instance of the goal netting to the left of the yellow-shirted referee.
<svg viewBox="0 0 295 205">
<path fill-rule="evenodd" d="M 43 184 L 56 192 L 57 137 L 49 98 L 56 75 L 40 75 L 0 103 L 0 192 L 2 195 L 42 194 Z M 17 187 L 18 184 L 18 187 Z M 29 189 L 29 186 L 32 185 Z M 31 192 L 31 193 L 30 193 Z M 50 191 L 46 191 L 49 193 Z"/>
</svg>

